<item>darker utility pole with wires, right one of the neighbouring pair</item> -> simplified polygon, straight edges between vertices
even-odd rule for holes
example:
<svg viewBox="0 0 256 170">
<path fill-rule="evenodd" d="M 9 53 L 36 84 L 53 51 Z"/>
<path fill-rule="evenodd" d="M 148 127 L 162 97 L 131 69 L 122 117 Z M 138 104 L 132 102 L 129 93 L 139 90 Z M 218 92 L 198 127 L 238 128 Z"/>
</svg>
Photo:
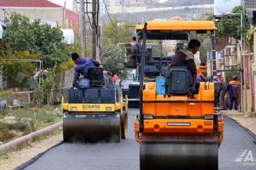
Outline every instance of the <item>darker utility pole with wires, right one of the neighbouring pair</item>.
<svg viewBox="0 0 256 170">
<path fill-rule="evenodd" d="M 97 59 L 97 50 L 98 50 L 98 21 L 99 21 L 99 0 L 92 0 L 93 2 L 93 7 L 92 7 L 92 16 L 93 16 L 93 35 L 92 35 L 92 49 L 93 49 L 93 59 L 96 60 Z"/>
</svg>

